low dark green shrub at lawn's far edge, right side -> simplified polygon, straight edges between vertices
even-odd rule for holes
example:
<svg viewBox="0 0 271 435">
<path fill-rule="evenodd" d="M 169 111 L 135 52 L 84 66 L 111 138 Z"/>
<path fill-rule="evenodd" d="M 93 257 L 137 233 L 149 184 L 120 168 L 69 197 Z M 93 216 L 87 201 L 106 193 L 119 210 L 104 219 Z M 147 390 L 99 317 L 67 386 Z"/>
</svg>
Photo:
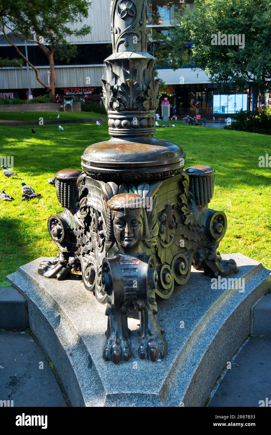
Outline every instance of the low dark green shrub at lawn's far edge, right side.
<svg viewBox="0 0 271 435">
<path fill-rule="evenodd" d="M 250 133 L 271 134 L 271 107 L 262 110 L 258 115 L 251 115 L 241 110 L 232 115 L 232 119 L 234 119 L 234 122 L 224 128 Z"/>
</svg>

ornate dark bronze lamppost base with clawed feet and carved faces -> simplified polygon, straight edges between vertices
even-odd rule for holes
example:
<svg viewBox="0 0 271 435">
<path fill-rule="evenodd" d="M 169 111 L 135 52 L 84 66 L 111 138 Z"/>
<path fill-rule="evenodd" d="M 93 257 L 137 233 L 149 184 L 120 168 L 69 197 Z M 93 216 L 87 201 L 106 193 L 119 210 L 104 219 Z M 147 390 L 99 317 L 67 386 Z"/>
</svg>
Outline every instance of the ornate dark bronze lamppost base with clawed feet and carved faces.
<svg viewBox="0 0 271 435">
<path fill-rule="evenodd" d="M 182 147 L 153 137 L 159 86 L 146 53 L 146 0 L 112 0 L 111 17 L 103 89 L 112 138 L 85 150 L 84 172 L 56 174 L 64 212 L 49 218 L 48 230 L 60 255 L 39 273 L 64 279 L 81 271 L 85 288 L 107 303 L 103 358 L 118 364 L 132 356 L 130 311 L 140 317 L 138 357 L 157 361 L 166 341 L 156 299 L 185 284 L 192 264 L 210 277 L 238 268 L 217 251 L 227 218 L 208 208 L 214 169 L 184 171 Z"/>
</svg>

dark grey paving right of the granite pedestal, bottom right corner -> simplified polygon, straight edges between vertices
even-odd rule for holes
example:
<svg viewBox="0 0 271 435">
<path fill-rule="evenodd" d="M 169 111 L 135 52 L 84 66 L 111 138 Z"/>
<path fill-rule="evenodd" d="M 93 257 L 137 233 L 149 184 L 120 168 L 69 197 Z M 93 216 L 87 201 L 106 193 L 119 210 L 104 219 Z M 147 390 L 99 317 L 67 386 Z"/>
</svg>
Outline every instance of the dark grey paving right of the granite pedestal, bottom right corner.
<svg viewBox="0 0 271 435">
<path fill-rule="evenodd" d="M 271 406 L 271 337 L 252 337 L 235 358 L 209 406 L 258 407 L 260 401 L 269 400 Z"/>
</svg>

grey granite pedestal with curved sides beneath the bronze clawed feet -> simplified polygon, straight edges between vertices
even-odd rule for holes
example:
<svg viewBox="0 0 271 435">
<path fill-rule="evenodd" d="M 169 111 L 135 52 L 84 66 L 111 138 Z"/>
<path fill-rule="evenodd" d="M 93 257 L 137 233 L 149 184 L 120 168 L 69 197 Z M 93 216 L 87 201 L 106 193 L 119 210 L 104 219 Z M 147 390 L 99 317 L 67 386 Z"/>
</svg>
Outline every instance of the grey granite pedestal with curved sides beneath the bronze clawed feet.
<svg viewBox="0 0 271 435">
<path fill-rule="evenodd" d="M 204 406 L 214 383 L 249 335 L 251 306 L 271 288 L 271 275 L 258 261 L 234 258 L 244 292 L 211 288 L 192 270 L 184 286 L 158 302 L 167 358 L 137 357 L 138 319 L 130 318 L 133 357 L 118 366 L 102 359 L 105 305 L 77 280 L 56 281 L 37 274 L 39 258 L 7 279 L 26 298 L 30 328 L 52 360 L 73 406 Z M 227 280 L 228 280 L 227 278 Z"/>
</svg>

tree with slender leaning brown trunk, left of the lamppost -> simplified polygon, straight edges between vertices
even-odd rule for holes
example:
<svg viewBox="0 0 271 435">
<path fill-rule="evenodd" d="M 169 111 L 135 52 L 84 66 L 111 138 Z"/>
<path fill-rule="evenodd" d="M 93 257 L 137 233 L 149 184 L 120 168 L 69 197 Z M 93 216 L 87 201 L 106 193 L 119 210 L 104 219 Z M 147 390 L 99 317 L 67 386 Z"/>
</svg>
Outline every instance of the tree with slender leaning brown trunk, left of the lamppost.
<svg viewBox="0 0 271 435">
<path fill-rule="evenodd" d="M 55 93 L 54 57 L 69 60 L 75 48 L 67 44 L 70 35 L 81 37 L 90 33 L 89 26 L 71 30 L 70 24 L 81 23 L 88 16 L 89 0 L 0 0 L 0 18 L 6 40 L 34 70 L 38 82 Z M 37 68 L 21 52 L 15 38 L 37 44 L 50 65 L 50 85 L 43 83 Z"/>
</svg>

